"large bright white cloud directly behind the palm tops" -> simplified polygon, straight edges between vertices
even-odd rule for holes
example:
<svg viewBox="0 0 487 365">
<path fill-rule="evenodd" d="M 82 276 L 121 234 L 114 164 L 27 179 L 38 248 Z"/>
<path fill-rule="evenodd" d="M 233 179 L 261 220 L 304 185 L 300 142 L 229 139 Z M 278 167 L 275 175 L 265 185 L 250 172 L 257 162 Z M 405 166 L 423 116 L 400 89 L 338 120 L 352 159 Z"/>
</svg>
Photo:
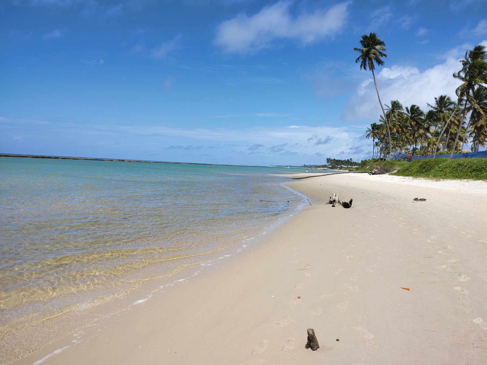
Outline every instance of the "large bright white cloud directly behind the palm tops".
<svg viewBox="0 0 487 365">
<path fill-rule="evenodd" d="M 383 104 L 399 100 L 403 106 L 418 105 L 427 110 L 426 103 L 445 94 L 456 100 L 455 89 L 460 82 L 452 74 L 460 70 L 458 58 L 448 57 L 444 63 L 421 72 L 416 67 L 394 65 L 376 74 L 377 88 Z M 372 76 L 372 75 L 371 75 Z M 350 98 L 342 117 L 345 120 L 369 119 L 377 121 L 382 114 L 372 78 L 360 83 Z"/>
</svg>

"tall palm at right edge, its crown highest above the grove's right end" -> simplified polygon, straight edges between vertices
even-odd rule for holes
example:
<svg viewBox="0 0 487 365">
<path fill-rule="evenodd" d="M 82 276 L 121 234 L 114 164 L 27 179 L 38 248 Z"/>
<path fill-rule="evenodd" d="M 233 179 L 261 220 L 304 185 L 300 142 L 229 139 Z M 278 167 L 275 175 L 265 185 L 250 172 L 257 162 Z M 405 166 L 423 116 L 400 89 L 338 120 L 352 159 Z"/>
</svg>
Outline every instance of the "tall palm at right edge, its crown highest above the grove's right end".
<svg viewBox="0 0 487 365">
<path fill-rule="evenodd" d="M 462 81 L 456 94 L 458 98 L 465 97 L 465 106 L 463 107 L 462 118 L 460 119 L 460 125 L 458 126 L 455 142 L 451 149 L 450 158 L 453 157 L 455 147 L 460 136 L 460 130 L 462 129 L 463 121 L 465 119 L 465 113 L 467 111 L 467 104 L 471 93 L 478 85 L 487 83 L 487 52 L 484 46 L 478 45 L 471 51 L 465 53 L 465 59 L 462 62 L 462 69 L 458 73 L 453 73 L 453 77 Z"/>
</svg>

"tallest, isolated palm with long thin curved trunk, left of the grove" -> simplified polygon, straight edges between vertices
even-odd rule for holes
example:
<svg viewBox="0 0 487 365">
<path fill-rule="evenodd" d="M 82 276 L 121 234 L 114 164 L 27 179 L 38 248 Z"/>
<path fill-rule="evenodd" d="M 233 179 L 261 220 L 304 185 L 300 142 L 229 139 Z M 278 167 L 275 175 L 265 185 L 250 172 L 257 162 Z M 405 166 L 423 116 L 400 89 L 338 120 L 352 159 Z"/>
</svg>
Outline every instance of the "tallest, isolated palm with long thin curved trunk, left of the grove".
<svg viewBox="0 0 487 365">
<path fill-rule="evenodd" d="M 391 128 L 389 126 L 389 122 L 387 121 L 386 112 L 384 111 L 384 107 L 382 106 L 382 102 L 380 101 L 379 90 L 377 89 L 377 82 L 375 81 L 375 64 L 378 66 L 384 66 L 384 61 L 381 57 L 387 57 L 387 55 L 383 52 L 385 51 L 386 44 L 384 41 L 377 37 L 375 33 L 371 33 L 368 36 L 364 34 L 362 36 L 362 40 L 360 40 L 360 45 L 362 48 L 354 48 L 354 51 L 360 52 L 360 55 L 355 60 L 355 63 L 360 61 L 360 70 L 369 69 L 372 71 L 372 76 L 374 77 L 374 85 L 375 91 L 377 91 L 377 98 L 379 99 L 380 108 L 382 109 L 382 114 L 384 115 L 384 120 L 386 122 L 387 132 L 389 136 L 389 159 L 392 157 L 393 154 L 393 147 L 391 142 Z"/>
</svg>

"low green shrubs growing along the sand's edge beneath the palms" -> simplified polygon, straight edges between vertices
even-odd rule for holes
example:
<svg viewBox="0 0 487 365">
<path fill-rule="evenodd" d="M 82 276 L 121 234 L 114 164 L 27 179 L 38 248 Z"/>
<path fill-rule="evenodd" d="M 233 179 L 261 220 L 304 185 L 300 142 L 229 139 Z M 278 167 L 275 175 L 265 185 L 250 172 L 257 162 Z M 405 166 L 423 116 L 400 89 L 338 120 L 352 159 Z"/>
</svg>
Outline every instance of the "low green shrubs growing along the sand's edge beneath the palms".
<svg viewBox="0 0 487 365">
<path fill-rule="evenodd" d="M 487 180 L 487 158 L 435 158 L 412 161 L 392 175 L 429 179 Z"/>
</svg>

